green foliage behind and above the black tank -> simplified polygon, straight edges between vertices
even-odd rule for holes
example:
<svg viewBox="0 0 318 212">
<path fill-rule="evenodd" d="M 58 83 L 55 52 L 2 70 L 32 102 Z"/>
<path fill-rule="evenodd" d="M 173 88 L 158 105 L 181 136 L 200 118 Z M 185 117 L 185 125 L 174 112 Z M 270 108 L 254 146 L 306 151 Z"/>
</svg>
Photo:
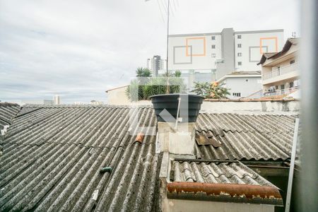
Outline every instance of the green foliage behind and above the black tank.
<svg viewBox="0 0 318 212">
<path fill-rule="evenodd" d="M 152 95 L 165 94 L 167 92 L 167 82 L 169 93 L 184 93 L 186 86 L 181 76 L 181 71 L 174 73 L 164 73 L 159 77 L 151 77 L 149 69 L 138 68 L 136 79 L 126 88 L 126 96 L 132 100 L 149 100 Z"/>
</svg>

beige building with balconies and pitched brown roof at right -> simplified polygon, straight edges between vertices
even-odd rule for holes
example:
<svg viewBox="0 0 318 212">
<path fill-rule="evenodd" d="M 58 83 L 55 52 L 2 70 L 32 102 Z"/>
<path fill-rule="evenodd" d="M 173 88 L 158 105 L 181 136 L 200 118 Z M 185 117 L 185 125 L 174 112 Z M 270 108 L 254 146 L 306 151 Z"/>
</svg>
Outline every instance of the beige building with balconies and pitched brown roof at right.
<svg viewBox="0 0 318 212">
<path fill-rule="evenodd" d="M 286 96 L 300 88 L 299 39 L 288 38 L 281 52 L 264 53 L 261 78 L 264 96 Z"/>
</svg>

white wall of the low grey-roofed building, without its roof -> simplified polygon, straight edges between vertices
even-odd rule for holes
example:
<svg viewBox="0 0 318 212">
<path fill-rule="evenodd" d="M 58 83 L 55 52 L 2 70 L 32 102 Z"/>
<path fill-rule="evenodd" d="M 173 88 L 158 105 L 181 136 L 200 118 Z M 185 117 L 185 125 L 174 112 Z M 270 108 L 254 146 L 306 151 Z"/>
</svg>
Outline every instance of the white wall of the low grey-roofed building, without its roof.
<svg viewBox="0 0 318 212">
<path fill-rule="evenodd" d="M 240 98 L 232 95 L 232 93 L 241 93 L 242 98 L 261 90 L 261 76 L 225 78 L 223 83 L 225 83 L 225 88 L 230 88 L 229 92 L 231 93 L 231 95 L 228 95 L 228 98 L 230 99 Z"/>
</svg>

